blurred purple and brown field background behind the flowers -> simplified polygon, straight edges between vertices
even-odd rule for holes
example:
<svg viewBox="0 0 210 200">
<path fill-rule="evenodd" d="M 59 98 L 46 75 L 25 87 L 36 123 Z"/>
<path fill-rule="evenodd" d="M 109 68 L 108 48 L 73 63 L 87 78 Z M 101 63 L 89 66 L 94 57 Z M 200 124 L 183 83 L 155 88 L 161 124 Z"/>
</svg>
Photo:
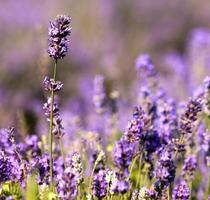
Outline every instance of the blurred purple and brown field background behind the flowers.
<svg viewBox="0 0 210 200">
<path fill-rule="evenodd" d="M 77 112 L 91 103 L 98 73 L 128 98 L 135 59 L 145 52 L 163 88 L 188 99 L 209 74 L 209 8 L 208 0 L 0 1 L 1 126 L 19 122 L 34 131 L 37 115 L 44 117 L 42 81 L 53 65 L 46 52 L 48 23 L 57 14 L 72 17 L 70 52 L 58 64 L 58 79 L 62 106 Z"/>
</svg>

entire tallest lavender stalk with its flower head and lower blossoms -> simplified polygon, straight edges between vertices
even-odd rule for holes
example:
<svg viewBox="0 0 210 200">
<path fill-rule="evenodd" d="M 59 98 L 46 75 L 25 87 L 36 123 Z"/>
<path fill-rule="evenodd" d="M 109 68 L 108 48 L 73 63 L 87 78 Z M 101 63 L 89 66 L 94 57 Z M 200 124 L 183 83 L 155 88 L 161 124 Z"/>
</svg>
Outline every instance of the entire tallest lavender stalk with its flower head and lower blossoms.
<svg viewBox="0 0 210 200">
<path fill-rule="evenodd" d="M 45 110 L 49 117 L 49 154 L 50 154 L 50 190 L 53 191 L 53 139 L 54 134 L 59 138 L 63 135 L 63 127 L 61 118 L 55 104 L 55 92 L 62 88 L 62 83 L 56 81 L 57 63 L 59 59 L 65 57 L 68 51 L 68 36 L 71 33 L 71 18 L 65 15 L 58 15 L 49 25 L 48 53 L 54 58 L 55 65 L 53 70 L 53 78 L 45 78 L 45 89 L 51 91 L 50 100 L 45 106 Z M 50 105 L 49 105 L 50 104 Z M 50 107 L 49 107 L 50 106 Z M 49 109 L 49 110 L 48 110 Z M 49 116 L 50 114 L 50 116 Z"/>
</svg>

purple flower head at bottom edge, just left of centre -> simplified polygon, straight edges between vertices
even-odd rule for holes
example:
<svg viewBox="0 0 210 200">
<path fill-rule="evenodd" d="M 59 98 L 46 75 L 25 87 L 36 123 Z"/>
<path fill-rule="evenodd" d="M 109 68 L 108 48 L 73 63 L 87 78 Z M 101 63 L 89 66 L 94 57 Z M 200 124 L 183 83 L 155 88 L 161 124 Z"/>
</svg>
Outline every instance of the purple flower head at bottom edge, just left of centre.
<svg viewBox="0 0 210 200">
<path fill-rule="evenodd" d="M 93 177 L 93 195 L 102 199 L 107 194 L 108 183 L 106 181 L 106 170 L 100 170 Z"/>
</svg>

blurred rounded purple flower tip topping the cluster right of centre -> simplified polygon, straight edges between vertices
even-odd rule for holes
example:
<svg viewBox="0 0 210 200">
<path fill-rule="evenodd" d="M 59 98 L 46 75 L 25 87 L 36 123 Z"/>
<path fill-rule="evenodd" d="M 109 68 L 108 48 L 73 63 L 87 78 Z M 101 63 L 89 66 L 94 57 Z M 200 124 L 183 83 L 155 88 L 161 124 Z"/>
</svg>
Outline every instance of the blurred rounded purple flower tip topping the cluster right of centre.
<svg viewBox="0 0 210 200">
<path fill-rule="evenodd" d="M 149 54 L 140 54 L 135 61 L 135 67 L 140 75 L 154 75 L 154 65 Z"/>
</svg>

